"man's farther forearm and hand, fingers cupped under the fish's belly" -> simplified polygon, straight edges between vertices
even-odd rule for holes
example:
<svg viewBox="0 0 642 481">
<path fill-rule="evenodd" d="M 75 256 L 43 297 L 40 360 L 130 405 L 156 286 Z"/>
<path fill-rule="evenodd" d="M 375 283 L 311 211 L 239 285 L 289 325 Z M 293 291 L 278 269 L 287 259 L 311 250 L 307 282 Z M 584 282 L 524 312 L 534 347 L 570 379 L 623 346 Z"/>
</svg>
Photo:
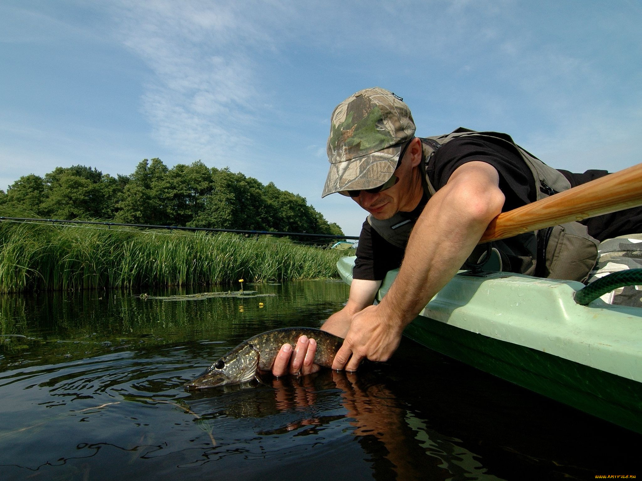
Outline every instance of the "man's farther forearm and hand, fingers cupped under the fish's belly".
<svg viewBox="0 0 642 481">
<path fill-rule="evenodd" d="M 372 305 L 380 285 L 381 281 L 352 280 L 350 295 L 345 307 L 328 317 L 321 328 L 339 337 L 345 337 L 350 328 L 352 316 L 363 310 L 363 308 Z M 306 375 L 318 371 L 319 366 L 314 364 L 315 352 L 317 351 L 317 343 L 314 339 L 308 339 L 304 335 L 301 336 L 297 341 L 297 346 L 294 348 L 294 355 L 292 355 L 292 351 L 293 348 L 290 344 L 281 346 L 281 350 L 272 367 L 273 375 L 283 376 L 288 372 L 291 374 L 300 372 Z M 291 362 L 290 358 L 292 358 Z M 289 369 L 288 364 L 290 365 Z"/>
</svg>

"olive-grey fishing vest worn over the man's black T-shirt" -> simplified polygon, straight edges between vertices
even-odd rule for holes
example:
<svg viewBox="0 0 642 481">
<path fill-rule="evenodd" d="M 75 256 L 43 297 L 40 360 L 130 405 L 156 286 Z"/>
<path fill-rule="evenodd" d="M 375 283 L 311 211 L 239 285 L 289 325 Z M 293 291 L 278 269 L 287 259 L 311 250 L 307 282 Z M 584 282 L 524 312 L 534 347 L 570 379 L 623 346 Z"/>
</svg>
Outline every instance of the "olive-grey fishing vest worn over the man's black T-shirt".
<svg viewBox="0 0 642 481">
<path fill-rule="evenodd" d="M 517 149 L 535 180 L 537 200 L 571 188 L 564 175 L 518 146 L 510 135 L 505 133 L 478 132 L 460 127 L 446 135 L 421 138 L 424 165 L 429 165 L 437 150 L 446 142 L 469 135 L 482 139 L 491 138 L 495 142 L 499 139 L 510 144 L 508 148 Z M 428 198 L 434 195 L 436 190 L 428 174 L 424 175 L 422 181 Z M 408 213 L 403 212 L 398 212 L 385 221 L 380 221 L 372 215 L 368 216 L 370 226 L 383 239 L 401 249 L 406 248 L 415 221 L 416 218 L 409 218 Z M 571 222 L 480 244 L 462 268 L 507 271 L 583 282 L 595 264 L 598 244 L 599 242 L 588 234 L 584 224 Z"/>
</svg>

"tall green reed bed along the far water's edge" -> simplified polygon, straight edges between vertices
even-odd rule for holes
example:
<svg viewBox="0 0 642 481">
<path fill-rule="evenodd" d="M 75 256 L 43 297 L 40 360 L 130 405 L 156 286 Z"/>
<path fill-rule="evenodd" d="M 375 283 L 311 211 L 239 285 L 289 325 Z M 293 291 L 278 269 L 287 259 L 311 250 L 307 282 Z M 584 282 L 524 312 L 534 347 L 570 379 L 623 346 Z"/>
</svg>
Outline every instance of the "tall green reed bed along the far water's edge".
<svg viewBox="0 0 642 481">
<path fill-rule="evenodd" d="M 0 292 L 336 277 L 345 253 L 274 237 L 0 223 Z"/>
</svg>

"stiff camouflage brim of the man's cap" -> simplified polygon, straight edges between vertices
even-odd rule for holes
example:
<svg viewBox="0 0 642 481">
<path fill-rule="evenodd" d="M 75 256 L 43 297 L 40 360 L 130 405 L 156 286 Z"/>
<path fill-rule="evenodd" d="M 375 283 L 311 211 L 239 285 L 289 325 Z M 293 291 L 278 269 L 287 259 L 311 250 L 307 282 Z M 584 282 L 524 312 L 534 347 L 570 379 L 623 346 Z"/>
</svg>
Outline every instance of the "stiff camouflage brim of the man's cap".
<svg viewBox="0 0 642 481">
<path fill-rule="evenodd" d="M 330 165 L 321 197 L 341 190 L 374 189 L 392 177 L 404 144 Z"/>
</svg>

